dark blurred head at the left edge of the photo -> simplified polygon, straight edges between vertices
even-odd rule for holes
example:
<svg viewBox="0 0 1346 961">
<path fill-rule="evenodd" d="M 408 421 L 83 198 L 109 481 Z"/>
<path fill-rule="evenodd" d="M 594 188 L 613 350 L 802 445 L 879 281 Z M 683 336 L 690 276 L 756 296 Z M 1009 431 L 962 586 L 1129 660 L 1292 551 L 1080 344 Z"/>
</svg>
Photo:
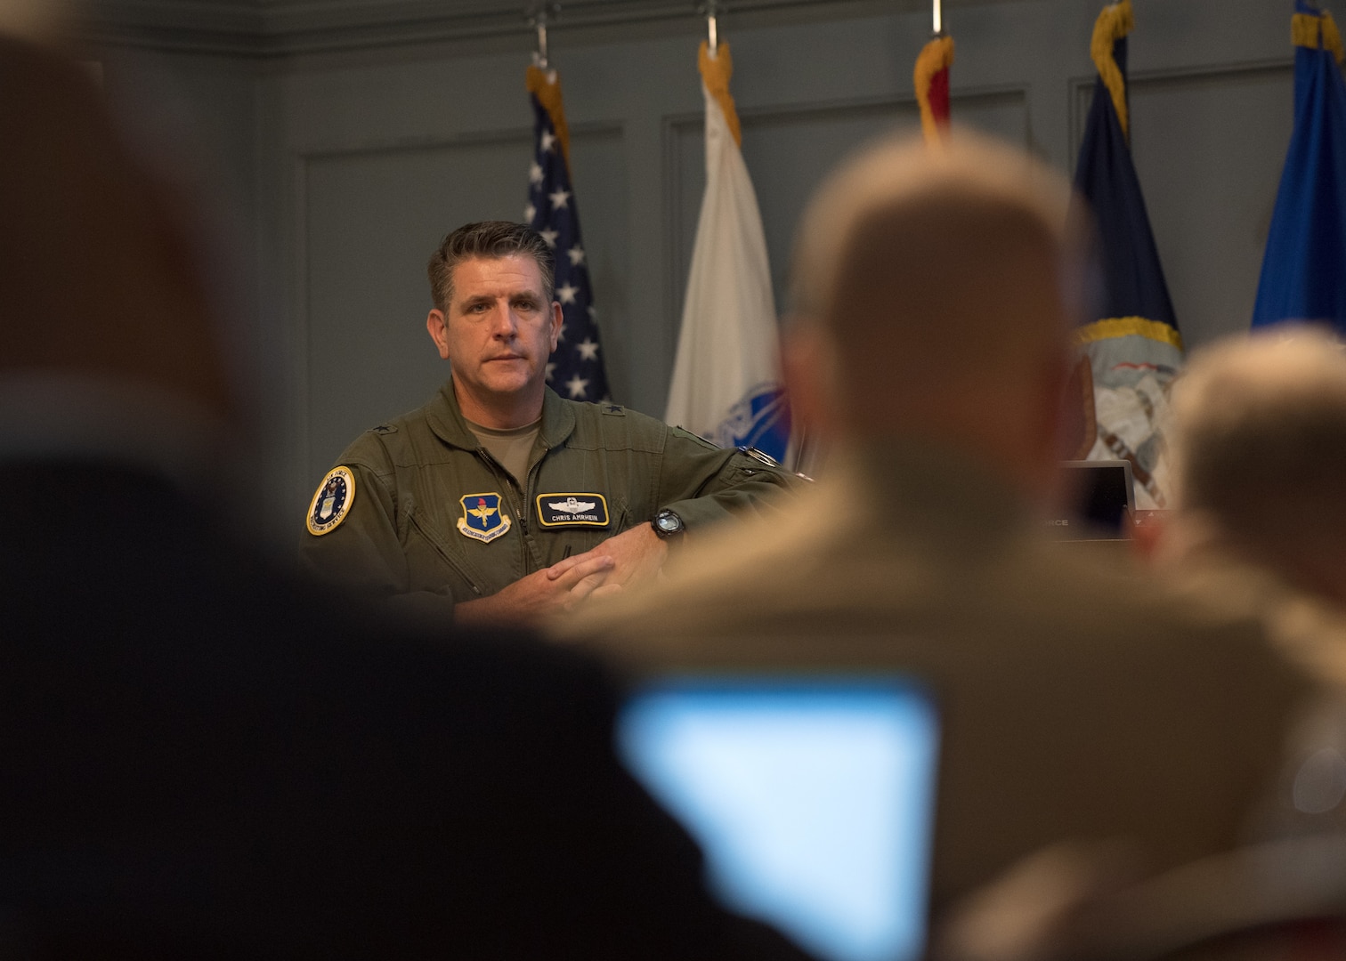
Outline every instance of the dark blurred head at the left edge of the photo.
<svg viewBox="0 0 1346 961">
<path fill-rule="evenodd" d="M 0 35 L 0 381 L 148 389 L 205 419 L 234 404 L 167 194 L 132 163 L 78 65 Z"/>
</svg>

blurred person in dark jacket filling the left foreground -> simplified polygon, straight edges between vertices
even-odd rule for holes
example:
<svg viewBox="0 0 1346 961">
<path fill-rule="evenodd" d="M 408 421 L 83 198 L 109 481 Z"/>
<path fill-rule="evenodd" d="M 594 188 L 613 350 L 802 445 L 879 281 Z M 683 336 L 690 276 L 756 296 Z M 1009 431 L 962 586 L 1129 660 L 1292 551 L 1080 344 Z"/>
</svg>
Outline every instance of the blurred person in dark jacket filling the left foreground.
<svg viewBox="0 0 1346 961">
<path fill-rule="evenodd" d="M 241 533 L 199 272 L 0 38 L 0 954 L 801 957 L 618 763 L 606 672 L 427 638 Z"/>
</svg>

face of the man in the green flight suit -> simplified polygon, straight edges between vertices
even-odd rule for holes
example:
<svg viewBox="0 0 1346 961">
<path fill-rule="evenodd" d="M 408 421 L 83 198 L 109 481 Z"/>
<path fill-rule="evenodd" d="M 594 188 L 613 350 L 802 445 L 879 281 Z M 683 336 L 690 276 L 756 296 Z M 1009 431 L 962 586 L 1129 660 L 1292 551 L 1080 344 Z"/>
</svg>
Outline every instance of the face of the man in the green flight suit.
<svg viewBox="0 0 1346 961">
<path fill-rule="evenodd" d="M 448 310 L 425 324 L 439 355 L 452 362 L 459 402 L 468 408 L 538 402 L 546 358 L 556 349 L 561 308 L 542 291 L 537 262 L 526 254 L 472 257 L 454 268 Z"/>
</svg>

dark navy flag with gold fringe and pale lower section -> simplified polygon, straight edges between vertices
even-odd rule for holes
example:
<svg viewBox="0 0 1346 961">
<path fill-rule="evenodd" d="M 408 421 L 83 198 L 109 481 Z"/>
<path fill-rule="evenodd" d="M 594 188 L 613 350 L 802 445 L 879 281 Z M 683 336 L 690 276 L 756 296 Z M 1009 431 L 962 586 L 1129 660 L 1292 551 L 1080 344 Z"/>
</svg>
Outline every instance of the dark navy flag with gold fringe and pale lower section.
<svg viewBox="0 0 1346 961">
<path fill-rule="evenodd" d="M 1167 503 L 1167 462 L 1159 424 L 1167 385 L 1182 363 L 1159 250 L 1131 160 L 1127 104 L 1127 34 L 1131 0 L 1104 8 L 1090 55 L 1098 69 L 1093 104 L 1075 167 L 1075 190 L 1098 227 L 1102 289 L 1098 315 L 1075 334 L 1093 376 L 1094 428 L 1089 459 L 1129 460 L 1136 506 Z"/>
</svg>

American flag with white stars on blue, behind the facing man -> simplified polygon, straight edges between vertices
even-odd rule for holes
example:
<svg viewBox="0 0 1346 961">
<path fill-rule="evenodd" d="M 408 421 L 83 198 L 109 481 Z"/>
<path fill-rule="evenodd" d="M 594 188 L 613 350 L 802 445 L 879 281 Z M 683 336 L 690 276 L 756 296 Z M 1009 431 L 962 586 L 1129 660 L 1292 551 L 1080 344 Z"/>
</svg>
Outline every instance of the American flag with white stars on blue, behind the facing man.
<svg viewBox="0 0 1346 961">
<path fill-rule="evenodd" d="M 561 336 L 546 365 L 546 384 L 561 397 L 606 401 L 610 400 L 607 373 L 571 187 L 569 131 L 556 71 L 530 66 L 528 92 L 536 122 L 524 219 L 556 254 L 556 299 L 561 303 Z"/>
</svg>

